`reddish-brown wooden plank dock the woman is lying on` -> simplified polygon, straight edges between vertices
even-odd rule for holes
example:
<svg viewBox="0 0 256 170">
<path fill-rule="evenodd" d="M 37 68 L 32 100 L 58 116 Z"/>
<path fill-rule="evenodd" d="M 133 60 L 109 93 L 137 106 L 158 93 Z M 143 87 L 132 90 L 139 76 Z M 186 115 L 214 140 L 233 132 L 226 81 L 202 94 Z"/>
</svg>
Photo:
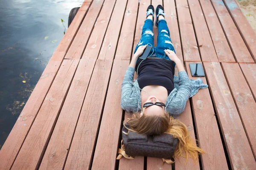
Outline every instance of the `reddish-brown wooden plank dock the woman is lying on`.
<svg viewBox="0 0 256 170">
<path fill-rule="evenodd" d="M 207 152 L 200 161 L 116 160 L 131 116 L 122 80 L 150 0 L 85 0 L 0 150 L 0 170 L 256 169 L 256 34 L 235 0 L 158 4 L 189 78 L 189 63 L 204 65 L 209 88 L 178 117 Z"/>
</svg>

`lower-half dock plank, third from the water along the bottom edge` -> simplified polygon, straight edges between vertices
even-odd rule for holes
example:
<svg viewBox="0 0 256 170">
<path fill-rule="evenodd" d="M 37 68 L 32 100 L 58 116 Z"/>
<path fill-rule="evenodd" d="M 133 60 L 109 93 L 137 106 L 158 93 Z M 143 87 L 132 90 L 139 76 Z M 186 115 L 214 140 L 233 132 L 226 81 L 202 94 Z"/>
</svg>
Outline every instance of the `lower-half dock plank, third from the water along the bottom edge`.
<svg viewBox="0 0 256 170">
<path fill-rule="evenodd" d="M 95 59 L 80 60 L 40 169 L 63 168 L 95 63 Z M 99 64 L 95 69 L 99 69 Z"/>
</svg>

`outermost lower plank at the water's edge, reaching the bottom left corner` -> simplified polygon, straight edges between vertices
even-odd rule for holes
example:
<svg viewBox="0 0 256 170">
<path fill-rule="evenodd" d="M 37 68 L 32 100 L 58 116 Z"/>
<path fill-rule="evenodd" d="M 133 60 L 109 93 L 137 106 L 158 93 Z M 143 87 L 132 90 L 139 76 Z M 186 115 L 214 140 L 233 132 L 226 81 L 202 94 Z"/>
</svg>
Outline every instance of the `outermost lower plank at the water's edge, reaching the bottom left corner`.
<svg viewBox="0 0 256 170">
<path fill-rule="evenodd" d="M 26 105 L 20 113 L 11 133 L 0 150 L 0 169 L 10 169 L 23 141 L 31 127 L 44 98 L 52 85 L 53 79 L 61 65 L 65 52 L 55 52 L 44 69 Z M 25 125 L 25 126 L 24 126 Z"/>
</svg>

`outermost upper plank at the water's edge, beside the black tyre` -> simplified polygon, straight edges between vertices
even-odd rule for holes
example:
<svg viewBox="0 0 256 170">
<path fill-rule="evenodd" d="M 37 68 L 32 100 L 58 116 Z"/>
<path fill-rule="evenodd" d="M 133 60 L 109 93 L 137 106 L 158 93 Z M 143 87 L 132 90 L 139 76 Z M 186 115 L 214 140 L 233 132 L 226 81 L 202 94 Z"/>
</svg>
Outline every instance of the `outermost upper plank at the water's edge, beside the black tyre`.
<svg viewBox="0 0 256 170">
<path fill-rule="evenodd" d="M 92 0 L 85 0 L 84 3 L 82 3 L 79 11 L 76 13 L 76 16 L 68 27 L 67 32 L 64 34 L 56 51 L 67 52 L 68 48 L 74 40 L 77 31 L 79 30 L 79 27 L 81 26 L 82 21 L 84 20 L 84 16 L 87 14 L 87 9 L 89 8 L 91 2 Z"/>
</svg>

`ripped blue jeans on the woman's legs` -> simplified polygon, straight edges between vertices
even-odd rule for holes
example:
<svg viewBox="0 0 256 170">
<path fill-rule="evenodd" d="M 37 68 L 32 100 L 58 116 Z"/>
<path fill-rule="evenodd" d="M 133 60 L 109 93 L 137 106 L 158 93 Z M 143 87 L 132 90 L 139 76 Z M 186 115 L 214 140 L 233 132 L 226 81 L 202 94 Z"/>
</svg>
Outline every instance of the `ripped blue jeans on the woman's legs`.
<svg viewBox="0 0 256 170">
<path fill-rule="evenodd" d="M 140 42 L 137 44 L 134 53 L 141 45 L 150 45 L 153 47 L 148 54 L 148 57 L 168 59 L 171 61 L 171 59 L 169 59 L 169 57 L 164 52 L 165 49 L 169 49 L 175 52 L 166 20 L 160 20 L 158 23 L 157 46 L 154 47 L 153 21 L 146 19 L 142 28 L 142 36 Z"/>
</svg>

